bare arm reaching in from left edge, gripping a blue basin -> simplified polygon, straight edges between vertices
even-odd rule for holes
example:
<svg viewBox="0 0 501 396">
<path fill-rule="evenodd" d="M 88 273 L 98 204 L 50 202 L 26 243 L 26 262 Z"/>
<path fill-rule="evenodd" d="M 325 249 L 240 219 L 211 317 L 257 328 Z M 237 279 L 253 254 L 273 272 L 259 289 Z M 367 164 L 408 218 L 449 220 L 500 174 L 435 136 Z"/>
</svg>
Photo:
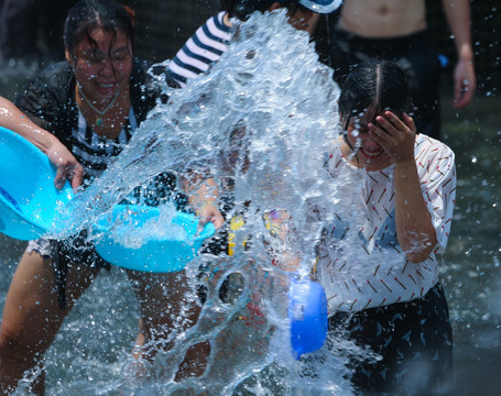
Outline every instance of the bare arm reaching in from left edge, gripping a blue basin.
<svg viewBox="0 0 501 396">
<path fill-rule="evenodd" d="M 81 185 L 84 168 L 73 154 L 51 132 L 33 123 L 28 116 L 19 110 L 11 101 L 0 97 L 0 124 L 33 143 L 47 155 L 51 163 L 56 166 L 54 179 L 56 188 L 63 188 L 66 179 L 70 180 L 76 189 Z"/>
</svg>

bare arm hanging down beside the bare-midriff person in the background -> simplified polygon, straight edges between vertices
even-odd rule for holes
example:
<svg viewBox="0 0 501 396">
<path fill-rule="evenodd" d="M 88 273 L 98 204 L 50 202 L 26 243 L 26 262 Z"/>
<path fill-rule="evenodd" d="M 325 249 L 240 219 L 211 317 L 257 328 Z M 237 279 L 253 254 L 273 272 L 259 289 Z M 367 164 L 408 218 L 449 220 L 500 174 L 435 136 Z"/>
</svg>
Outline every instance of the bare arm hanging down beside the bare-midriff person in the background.
<svg viewBox="0 0 501 396">
<path fill-rule="evenodd" d="M 471 47 L 471 18 L 468 0 L 442 0 L 447 22 L 454 35 L 458 62 L 454 70 L 454 107 L 461 108 L 473 99 L 477 78 Z"/>
</svg>

